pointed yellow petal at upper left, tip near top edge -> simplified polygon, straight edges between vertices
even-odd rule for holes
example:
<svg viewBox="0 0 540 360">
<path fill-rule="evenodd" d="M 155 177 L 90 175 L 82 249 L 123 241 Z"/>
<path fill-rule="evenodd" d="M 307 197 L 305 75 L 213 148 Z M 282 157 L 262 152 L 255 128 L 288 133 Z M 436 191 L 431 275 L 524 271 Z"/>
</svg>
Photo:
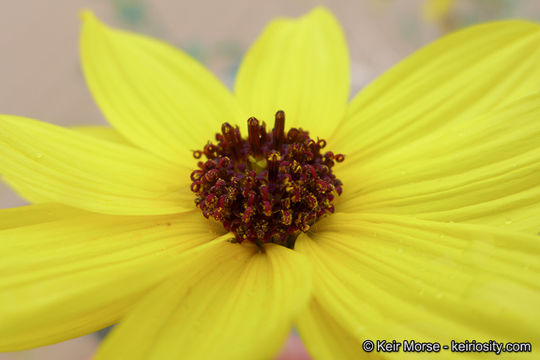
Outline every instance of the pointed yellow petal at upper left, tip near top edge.
<svg viewBox="0 0 540 360">
<path fill-rule="evenodd" d="M 83 14 L 81 61 L 107 120 L 132 143 L 189 165 L 228 121 L 242 121 L 219 81 L 181 51 L 148 37 L 107 27 Z"/>
</svg>

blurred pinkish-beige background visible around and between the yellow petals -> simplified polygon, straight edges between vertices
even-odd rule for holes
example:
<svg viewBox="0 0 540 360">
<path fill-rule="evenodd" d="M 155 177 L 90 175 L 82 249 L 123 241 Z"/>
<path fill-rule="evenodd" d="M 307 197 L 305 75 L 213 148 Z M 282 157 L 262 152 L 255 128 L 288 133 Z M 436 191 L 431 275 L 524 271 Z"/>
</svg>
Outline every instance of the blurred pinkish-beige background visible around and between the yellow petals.
<svg viewBox="0 0 540 360">
<path fill-rule="evenodd" d="M 182 48 L 231 87 L 242 55 L 270 19 L 316 5 L 330 8 L 343 25 L 352 94 L 448 32 L 495 19 L 540 21 L 538 0 L 0 0 L 0 113 L 59 125 L 105 124 L 79 67 L 81 9 Z M 0 184 L 0 208 L 22 204 Z M 0 354 L 0 360 L 89 359 L 103 334 Z M 305 358 L 298 347 L 293 335 L 281 359 Z"/>
</svg>

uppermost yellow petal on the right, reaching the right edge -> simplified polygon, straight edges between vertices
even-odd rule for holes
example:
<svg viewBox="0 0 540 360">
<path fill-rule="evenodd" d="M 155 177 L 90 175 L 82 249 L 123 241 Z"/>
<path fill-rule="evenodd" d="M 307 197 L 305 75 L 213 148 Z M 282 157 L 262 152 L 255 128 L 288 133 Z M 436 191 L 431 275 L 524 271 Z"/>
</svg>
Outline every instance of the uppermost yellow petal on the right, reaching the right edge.
<svg viewBox="0 0 540 360">
<path fill-rule="evenodd" d="M 426 46 L 352 101 L 329 140 L 349 161 L 372 161 L 540 90 L 540 26 L 473 26 Z"/>
</svg>

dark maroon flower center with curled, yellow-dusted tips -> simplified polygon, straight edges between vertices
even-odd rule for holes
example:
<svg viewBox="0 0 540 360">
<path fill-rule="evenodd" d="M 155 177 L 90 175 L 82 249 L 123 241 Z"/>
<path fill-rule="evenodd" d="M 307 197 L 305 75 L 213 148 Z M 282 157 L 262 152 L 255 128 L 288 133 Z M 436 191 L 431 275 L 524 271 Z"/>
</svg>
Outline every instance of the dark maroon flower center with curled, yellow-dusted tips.
<svg viewBox="0 0 540 360">
<path fill-rule="evenodd" d="M 322 152 L 326 141 L 291 128 L 285 134 L 285 113 L 278 111 L 274 128 L 248 119 L 248 137 L 224 123 L 217 144 L 194 151 L 198 169 L 191 173 L 195 204 L 206 218 L 220 221 L 236 242 L 258 246 L 277 243 L 289 248 L 300 232 L 334 212 L 342 183 L 332 173 L 342 154 Z"/>
</svg>

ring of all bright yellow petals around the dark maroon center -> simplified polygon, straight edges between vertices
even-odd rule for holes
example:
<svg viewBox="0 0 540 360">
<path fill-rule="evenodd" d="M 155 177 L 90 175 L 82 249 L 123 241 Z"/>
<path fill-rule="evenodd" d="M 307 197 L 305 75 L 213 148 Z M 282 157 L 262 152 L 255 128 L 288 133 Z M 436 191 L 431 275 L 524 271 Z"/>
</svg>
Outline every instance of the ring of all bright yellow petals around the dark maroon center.
<svg viewBox="0 0 540 360">
<path fill-rule="evenodd" d="M 320 359 L 360 358 L 368 339 L 540 345 L 538 25 L 445 37 L 347 104 L 324 9 L 272 22 L 233 94 L 168 45 L 83 18 L 84 74 L 118 132 L 0 117 L 2 175 L 36 203 L 0 216 L 0 351 L 121 319 L 97 359 L 270 358 L 293 322 Z M 346 156 L 335 212 L 294 249 L 231 241 L 190 191 L 192 151 L 222 123 L 279 109 Z"/>
</svg>

